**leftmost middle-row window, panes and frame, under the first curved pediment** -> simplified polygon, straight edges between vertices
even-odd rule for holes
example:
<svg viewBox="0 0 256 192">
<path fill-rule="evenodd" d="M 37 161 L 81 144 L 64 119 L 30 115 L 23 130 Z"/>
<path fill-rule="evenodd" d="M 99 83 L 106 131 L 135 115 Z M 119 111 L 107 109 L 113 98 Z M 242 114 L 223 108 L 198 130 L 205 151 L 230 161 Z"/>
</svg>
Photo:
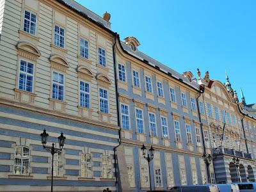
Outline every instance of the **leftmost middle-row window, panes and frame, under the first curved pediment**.
<svg viewBox="0 0 256 192">
<path fill-rule="evenodd" d="M 27 61 L 20 60 L 19 89 L 26 92 L 33 92 L 34 65 Z"/>
</svg>

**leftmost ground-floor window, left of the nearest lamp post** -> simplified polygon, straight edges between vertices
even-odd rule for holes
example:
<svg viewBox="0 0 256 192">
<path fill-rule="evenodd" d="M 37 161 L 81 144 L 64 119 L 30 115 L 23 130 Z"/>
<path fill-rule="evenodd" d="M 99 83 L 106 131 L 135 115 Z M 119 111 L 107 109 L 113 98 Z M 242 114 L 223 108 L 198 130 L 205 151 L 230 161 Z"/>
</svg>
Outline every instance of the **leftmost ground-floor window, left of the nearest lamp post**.
<svg viewBox="0 0 256 192">
<path fill-rule="evenodd" d="M 13 174 L 15 175 L 29 175 L 29 159 L 30 150 L 28 147 L 15 147 L 14 148 L 14 164 Z"/>
</svg>

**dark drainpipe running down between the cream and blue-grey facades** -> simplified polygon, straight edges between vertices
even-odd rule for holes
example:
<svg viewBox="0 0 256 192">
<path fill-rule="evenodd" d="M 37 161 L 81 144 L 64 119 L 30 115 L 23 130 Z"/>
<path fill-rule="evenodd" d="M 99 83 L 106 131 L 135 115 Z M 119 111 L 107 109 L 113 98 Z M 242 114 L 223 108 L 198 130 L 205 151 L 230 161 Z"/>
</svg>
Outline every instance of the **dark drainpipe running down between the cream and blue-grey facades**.
<svg viewBox="0 0 256 192">
<path fill-rule="evenodd" d="M 113 51 L 113 64 L 114 64 L 115 92 L 116 92 L 116 117 L 117 117 L 117 125 L 118 125 L 118 127 L 120 127 L 119 99 L 118 99 L 118 88 L 117 88 L 117 81 L 116 81 L 116 54 L 115 54 L 116 38 L 117 38 L 117 33 L 115 33 L 115 43 L 112 47 L 112 51 Z M 116 191 L 117 192 L 118 192 L 118 180 L 117 180 L 117 169 L 116 169 L 116 148 L 121 145 L 121 131 L 120 131 L 120 129 L 118 130 L 119 143 L 113 149 L 114 150 L 114 160 L 115 160 L 115 177 L 116 177 L 115 185 L 116 185 Z"/>
</svg>

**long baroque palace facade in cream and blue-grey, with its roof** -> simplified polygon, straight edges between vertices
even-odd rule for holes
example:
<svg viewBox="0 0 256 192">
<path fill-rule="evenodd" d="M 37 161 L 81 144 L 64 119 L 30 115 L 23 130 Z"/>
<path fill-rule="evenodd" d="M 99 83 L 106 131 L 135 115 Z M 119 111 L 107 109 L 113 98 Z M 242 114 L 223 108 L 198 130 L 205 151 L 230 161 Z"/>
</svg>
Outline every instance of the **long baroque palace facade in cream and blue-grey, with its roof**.
<svg viewBox="0 0 256 192">
<path fill-rule="evenodd" d="M 72 0 L 0 0 L 0 191 L 49 191 L 44 129 L 67 138 L 54 191 L 255 181 L 254 105 L 228 77 L 179 74 L 121 42 L 109 19 Z"/>
</svg>

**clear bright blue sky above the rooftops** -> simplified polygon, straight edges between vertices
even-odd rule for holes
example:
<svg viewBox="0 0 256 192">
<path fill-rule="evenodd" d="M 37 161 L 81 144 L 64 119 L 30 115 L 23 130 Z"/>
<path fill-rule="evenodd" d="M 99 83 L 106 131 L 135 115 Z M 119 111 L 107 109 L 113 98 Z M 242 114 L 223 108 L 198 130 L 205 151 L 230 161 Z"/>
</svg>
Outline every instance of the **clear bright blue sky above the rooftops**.
<svg viewBox="0 0 256 192">
<path fill-rule="evenodd" d="M 121 40 L 135 36 L 138 49 L 177 72 L 190 70 L 225 82 L 256 102 L 256 1 L 76 0 L 92 12 L 111 13 Z M 157 3 L 156 3 L 157 2 Z"/>
</svg>

